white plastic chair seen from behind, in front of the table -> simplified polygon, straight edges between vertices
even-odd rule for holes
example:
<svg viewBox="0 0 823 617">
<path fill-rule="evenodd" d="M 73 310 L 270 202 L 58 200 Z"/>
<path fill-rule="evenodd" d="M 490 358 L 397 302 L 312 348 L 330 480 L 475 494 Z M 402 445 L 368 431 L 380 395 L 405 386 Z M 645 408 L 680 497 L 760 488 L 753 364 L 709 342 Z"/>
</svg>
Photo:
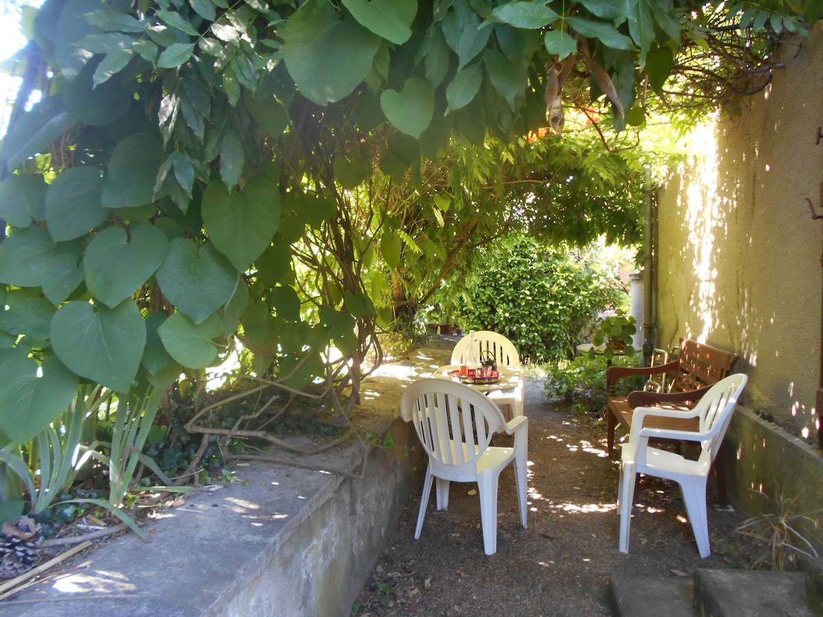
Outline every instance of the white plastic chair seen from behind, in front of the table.
<svg viewBox="0 0 823 617">
<path fill-rule="evenodd" d="M 526 527 L 528 418 L 508 423 L 500 408 L 480 392 L 462 383 L 421 379 L 403 391 L 403 420 L 414 422 L 417 436 L 429 455 L 425 470 L 415 540 L 420 538 L 432 480 L 437 480 L 437 509 L 449 506 L 449 482 L 477 482 L 486 554 L 497 551 L 497 484 L 500 471 L 514 461 L 520 522 Z M 491 446 L 495 433 L 514 434 L 513 448 Z"/>
</svg>

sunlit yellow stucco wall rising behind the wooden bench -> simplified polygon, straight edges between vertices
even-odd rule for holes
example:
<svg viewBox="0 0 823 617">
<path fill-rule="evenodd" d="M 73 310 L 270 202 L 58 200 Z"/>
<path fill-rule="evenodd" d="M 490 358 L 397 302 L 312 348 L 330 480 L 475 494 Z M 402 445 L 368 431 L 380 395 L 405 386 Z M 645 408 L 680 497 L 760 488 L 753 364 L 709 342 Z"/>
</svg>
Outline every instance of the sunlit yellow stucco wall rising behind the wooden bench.
<svg viewBox="0 0 823 617">
<path fill-rule="evenodd" d="M 785 68 L 738 117 L 695 135 L 659 193 L 658 336 L 741 356 L 746 405 L 790 433 L 816 431 L 820 382 L 823 22 L 783 44 Z"/>
</svg>

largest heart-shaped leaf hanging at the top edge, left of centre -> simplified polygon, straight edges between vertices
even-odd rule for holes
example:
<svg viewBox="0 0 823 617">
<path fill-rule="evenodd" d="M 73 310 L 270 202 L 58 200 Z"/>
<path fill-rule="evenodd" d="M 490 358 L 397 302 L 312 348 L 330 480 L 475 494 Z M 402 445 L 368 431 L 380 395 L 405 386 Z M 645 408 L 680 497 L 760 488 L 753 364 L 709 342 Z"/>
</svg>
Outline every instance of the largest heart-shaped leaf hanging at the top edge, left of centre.
<svg viewBox="0 0 823 617">
<path fill-rule="evenodd" d="M 308 0 L 286 21 L 283 58 L 300 93 L 319 105 L 351 94 L 369 74 L 380 37 L 331 2 Z"/>
</svg>

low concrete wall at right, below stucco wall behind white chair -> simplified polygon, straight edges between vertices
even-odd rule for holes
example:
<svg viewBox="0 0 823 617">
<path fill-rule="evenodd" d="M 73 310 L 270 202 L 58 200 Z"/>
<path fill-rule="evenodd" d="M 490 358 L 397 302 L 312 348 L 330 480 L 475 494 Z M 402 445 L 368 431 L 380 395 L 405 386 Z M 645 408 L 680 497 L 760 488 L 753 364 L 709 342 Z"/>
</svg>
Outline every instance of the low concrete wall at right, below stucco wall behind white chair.
<svg viewBox="0 0 823 617">
<path fill-rule="evenodd" d="M 728 498 L 746 517 L 774 513 L 774 500 L 796 499 L 792 514 L 814 513 L 823 508 L 823 454 L 777 424 L 767 422 L 738 406 L 723 448 Z M 768 499 L 758 494 L 762 491 Z M 800 523 L 802 526 L 802 523 Z M 823 547 L 823 527 L 802 526 Z"/>
</svg>

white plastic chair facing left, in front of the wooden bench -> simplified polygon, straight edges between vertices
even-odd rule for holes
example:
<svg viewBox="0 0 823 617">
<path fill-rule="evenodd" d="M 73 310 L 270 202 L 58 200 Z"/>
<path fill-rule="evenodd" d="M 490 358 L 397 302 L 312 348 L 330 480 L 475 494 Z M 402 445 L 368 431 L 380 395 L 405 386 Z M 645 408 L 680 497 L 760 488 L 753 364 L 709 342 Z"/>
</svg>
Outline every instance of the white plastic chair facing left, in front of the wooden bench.
<svg viewBox="0 0 823 617">
<path fill-rule="evenodd" d="M 712 461 L 723 442 L 732 411 L 737 405 L 748 378 L 743 374 L 729 375 L 715 383 L 690 411 L 637 407 L 631 419 L 629 441 L 623 444 L 620 482 L 617 487 L 617 512 L 620 514 L 620 550 L 629 552 L 631 509 L 635 498 L 635 474 L 674 480 L 680 485 L 691 529 L 695 532 L 700 557 L 709 549 L 709 522 L 706 517 L 706 480 Z M 643 428 L 647 416 L 698 418 L 699 429 L 687 430 Z M 691 461 L 675 452 L 649 446 L 649 438 L 678 439 L 700 442 L 700 457 Z"/>
</svg>

